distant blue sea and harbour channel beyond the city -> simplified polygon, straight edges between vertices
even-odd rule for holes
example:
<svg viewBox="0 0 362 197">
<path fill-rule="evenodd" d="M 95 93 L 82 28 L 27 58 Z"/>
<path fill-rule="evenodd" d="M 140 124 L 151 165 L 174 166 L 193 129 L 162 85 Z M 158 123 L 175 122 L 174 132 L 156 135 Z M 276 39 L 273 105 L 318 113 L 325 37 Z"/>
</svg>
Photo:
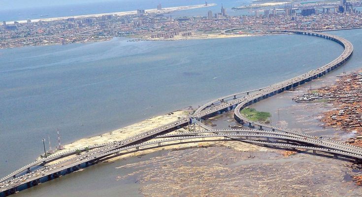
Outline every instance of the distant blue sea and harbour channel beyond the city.
<svg viewBox="0 0 362 197">
<path fill-rule="evenodd" d="M 221 12 L 221 3 L 227 8 L 227 14 L 238 16 L 249 14 L 248 10 L 233 11 L 232 7 L 250 4 L 251 0 L 208 0 L 208 3 L 217 3 L 216 6 L 183 10 L 171 13 L 173 17 L 180 16 L 207 16 L 207 11 Z M 48 5 L 37 7 L 0 9 L 0 21 L 20 21 L 26 19 L 39 19 L 40 15 L 48 15 L 44 18 L 77 16 L 85 14 L 98 14 L 136 9 L 153 9 L 161 3 L 163 7 L 175 7 L 185 5 L 204 4 L 205 0 L 115 0 L 81 4 Z M 1 8 L 1 7 L 0 7 Z M 254 13 L 250 13 L 254 14 Z"/>
</svg>

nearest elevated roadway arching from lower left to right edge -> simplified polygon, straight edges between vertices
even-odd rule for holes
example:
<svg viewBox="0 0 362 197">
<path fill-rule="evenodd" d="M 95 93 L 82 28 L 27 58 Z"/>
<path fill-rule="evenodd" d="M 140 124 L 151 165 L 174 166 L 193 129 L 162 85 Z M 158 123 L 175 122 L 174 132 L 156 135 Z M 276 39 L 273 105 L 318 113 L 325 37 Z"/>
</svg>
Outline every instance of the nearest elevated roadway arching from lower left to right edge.
<svg viewBox="0 0 362 197">
<path fill-rule="evenodd" d="M 210 134 L 210 132 L 217 132 L 217 134 Z M 200 131 L 200 132 L 187 132 L 181 134 L 173 135 L 162 135 L 158 136 L 156 140 L 144 142 L 140 144 L 134 144 L 122 148 L 112 150 L 110 152 L 99 150 L 99 155 L 95 158 L 102 158 L 103 160 L 110 159 L 112 157 L 117 157 L 124 154 L 129 154 L 132 152 L 165 147 L 170 145 L 185 144 L 185 143 L 196 143 L 196 142 L 205 142 L 205 141 L 228 141 L 236 140 L 243 141 L 247 143 L 255 143 L 264 146 L 271 147 L 281 147 L 281 148 L 291 148 L 292 150 L 312 150 L 313 154 L 317 154 L 317 151 L 330 155 L 331 157 L 342 156 L 345 158 L 352 159 L 362 159 L 362 151 L 356 151 L 353 153 L 349 148 L 341 148 L 339 146 L 331 146 L 324 143 L 321 139 L 313 138 L 300 138 L 300 136 L 291 136 L 289 133 L 275 132 L 273 134 L 267 133 L 252 133 L 260 132 L 257 130 L 211 130 L 211 131 Z M 182 136 L 178 136 L 182 135 Z M 229 137 L 232 137 L 230 139 Z M 163 139 L 159 139 L 163 138 Z M 261 140 L 260 138 L 265 138 L 266 140 Z M 271 139 L 276 139 L 278 141 L 272 141 Z M 281 142 L 282 140 L 283 142 Z M 88 158 L 88 159 L 87 159 Z M 74 162 L 65 163 L 59 166 L 59 164 L 54 164 L 46 166 L 44 168 L 34 170 L 28 174 L 21 175 L 12 179 L 6 185 L 6 188 L 12 188 L 7 191 L 7 194 L 17 191 L 17 188 L 21 185 L 27 185 L 26 187 L 31 187 L 33 185 L 39 184 L 40 179 L 51 180 L 52 178 L 57 178 L 62 176 L 70 171 L 77 170 L 81 168 L 81 164 L 84 162 L 90 162 L 95 160 L 93 156 L 89 157 L 88 155 L 81 155 L 77 158 L 73 158 Z M 87 164 L 85 165 L 87 166 Z M 82 166 L 84 167 L 84 166 Z M 24 181 L 26 180 L 26 181 Z M 1 185 L 2 186 L 2 185 Z"/>
</svg>

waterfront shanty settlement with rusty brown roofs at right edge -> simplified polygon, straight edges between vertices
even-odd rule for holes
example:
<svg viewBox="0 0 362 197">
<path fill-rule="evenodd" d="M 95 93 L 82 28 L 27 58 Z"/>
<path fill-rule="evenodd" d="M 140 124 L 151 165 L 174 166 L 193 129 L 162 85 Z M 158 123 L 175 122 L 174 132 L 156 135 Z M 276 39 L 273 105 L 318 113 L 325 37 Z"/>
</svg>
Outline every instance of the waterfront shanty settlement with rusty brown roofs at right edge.
<svg viewBox="0 0 362 197">
<path fill-rule="evenodd" d="M 359 73 L 359 74 L 358 74 Z M 293 98 L 296 103 L 318 105 L 320 127 L 342 131 L 349 138 L 342 137 L 345 143 L 362 146 L 357 135 L 362 134 L 361 100 L 358 99 L 362 82 L 360 68 L 333 77 L 333 82 L 310 89 Z M 343 90 L 342 90 L 343 89 Z M 347 96 L 346 96 L 347 95 Z M 357 99 L 354 99 L 357 96 Z M 353 137 L 354 136 L 354 137 Z"/>
</svg>

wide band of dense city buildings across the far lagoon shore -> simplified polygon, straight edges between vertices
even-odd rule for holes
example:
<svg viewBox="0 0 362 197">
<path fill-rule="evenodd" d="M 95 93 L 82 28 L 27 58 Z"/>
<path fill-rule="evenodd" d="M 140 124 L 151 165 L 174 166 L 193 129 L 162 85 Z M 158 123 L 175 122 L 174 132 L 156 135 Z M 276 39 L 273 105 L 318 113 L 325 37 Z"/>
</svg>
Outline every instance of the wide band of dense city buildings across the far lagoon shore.
<svg viewBox="0 0 362 197">
<path fill-rule="evenodd" d="M 157 6 L 158 10 L 163 10 L 161 4 Z M 362 27 L 360 12 L 331 12 L 327 8 L 318 14 L 306 16 L 297 14 L 296 9 L 290 7 L 264 10 L 263 15 L 256 12 L 255 16 L 229 16 L 226 12 L 222 6 L 220 13 L 208 11 L 207 17 L 173 19 L 162 12 L 139 9 L 135 14 L 128 15 L 108 14 L 36 22 L 28 20 L 13 24 L 3 22 L 0 26 L 0 48 L 86 42 L 129 35 L 142 39 L 170 39 L 194 33 L 220 33 L 230 28 L 245 30 L 238 33 L 263 33 L 263 30 L 270 29 L 316 31 Z"/>
</svg>

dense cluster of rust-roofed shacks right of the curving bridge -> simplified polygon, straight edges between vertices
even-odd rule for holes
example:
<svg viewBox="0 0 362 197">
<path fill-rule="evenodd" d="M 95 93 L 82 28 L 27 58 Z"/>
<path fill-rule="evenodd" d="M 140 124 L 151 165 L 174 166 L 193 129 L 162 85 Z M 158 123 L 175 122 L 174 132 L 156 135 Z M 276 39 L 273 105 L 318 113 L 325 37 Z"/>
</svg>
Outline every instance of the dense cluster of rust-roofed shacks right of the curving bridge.
<svg viewBox="0 0 362 197">
<path fill-rule="evenodd" d="M 295 101 L 325 99 L 337 109 L 329 111 L 322 119 L 329 127 L 339 127 L 345 131 L 362 133 L 362 72 L 341 77 L 332 87 L 318 90 L 318 93 L 305 94 Z"/>
</svg>

